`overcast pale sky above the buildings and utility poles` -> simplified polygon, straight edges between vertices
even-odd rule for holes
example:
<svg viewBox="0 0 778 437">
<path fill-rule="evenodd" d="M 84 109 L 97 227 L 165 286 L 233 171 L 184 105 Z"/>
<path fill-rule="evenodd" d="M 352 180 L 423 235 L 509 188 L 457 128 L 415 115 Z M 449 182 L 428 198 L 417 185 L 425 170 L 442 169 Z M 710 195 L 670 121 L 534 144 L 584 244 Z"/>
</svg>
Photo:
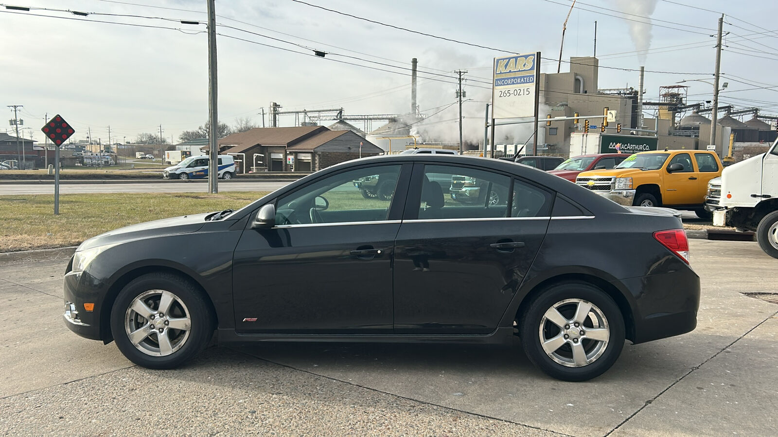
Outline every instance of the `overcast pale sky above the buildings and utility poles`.
<svg viewBox="0 0 778 437">
<path fill-rule="evenodd" d="M 217 28 L 224 35 L 217 37 L 221 121 L 234 124 L 236 117 L 252 117 L 261 126 L 258 113 L 261 107 L 267 112 L 271 101 L 280 103 L 282 110 L 343 107 L 345 114 L 406 113 L 410 108 L 410 77 L 405 68 L 410 67 L 411 58 L 418 58 L 419 109 L 426 114 L 444 110 L 429 118 L 427 128 L 456 131 L 456 122 L 450 120 L 456 117 L 456 106 L 445 106 L 456 100 L 453 72 L 463 69 L 468 70 L 465 89 L 471 99 L 464 103 L 465 115 L 474 117 L 467 119 L 466 131 L 478 135 L 483 124 L 475 117 L 483 117 L 484 102 L 490 97 L 485 88 L 489 88 L 492 58 L 541 51 L 543 58 L 548 58 L 541 62 L 541 71 L 556 72 L 557 63 L 552 60 L 559 57 L 562 23 L 571 4 L 569 0 L 307 2 L 496 50 L 408 33 L 293 0 L 219 0 L 217 23 L 222 26 Z M 160 124 L 163 136 L 170 140 L 172 135 L 177 142 L 181 131 L 195 129 L 207 120 L 205 25 L 178 22 L 204 21 L 205 0 L 13 0 L 12 4 L 163 18 L 80 17 L 54 10 L 10 13 L 0 9 L 0 40 L 5 43 L 0 48 L 0 96 L 3 107 L 24 105 L 19 118 L 25 120 L 25 127 L 32 128 L 24 131 L 26 138 L 33 132 L 33 137 L 42 141 L 39 129 L 46 113 L 50 117 L 58 113 L 70 121 L 76 129 L 75 139 L 86 138 L 87 128 L 91 128 L 93 138 L 103 142 L 107 142 L 109 125 L 114 142 L 124 137 L 135 139 L 141 132 L 158 134 Z M 597 20 L 599 87 L 637 87 L 637 72 L 615 68 L 645 65 L 650 71 L 646 74 L 646 98 L 654 100 L 660 86 L 684 79 L 712 82 L 715 38 L 710 35 L 716 33 L 721 13 L 726 14 L 724 32 L 729 32 L 721 61 L 722 82 L 729 82 L 729 87 L 721 94 L 722 103 L 756 105 L 765 114 L 778 113 L 778 79 L 774 74 L 778 66 L 778 25 L 774 20 L 778 2 L 774 0 L 577 2 L 567 23 L 562 59 L 593 53 Z M 640 16 L 650 16 L 653 24 L 629 20 L 647 21 Z M 317 58 L 311 49 L 328 54 Z M 636 52 L 639 49 L 648 50 L 641 57 Z M 562 62 L 562 72 L 568 69 Z M 710 85 L 685 85 L 690 86 L 690 103 L 712 98 Z M 12 118 L 12 112 L 6 115 L 4 120 Z M 281 123 L 291 126 L 294 118 L 283 117 Z M 363 124 L 355 124 L 363 128 Z M 373 124 L 373 128 L 379 125 Z"/>
</svg>

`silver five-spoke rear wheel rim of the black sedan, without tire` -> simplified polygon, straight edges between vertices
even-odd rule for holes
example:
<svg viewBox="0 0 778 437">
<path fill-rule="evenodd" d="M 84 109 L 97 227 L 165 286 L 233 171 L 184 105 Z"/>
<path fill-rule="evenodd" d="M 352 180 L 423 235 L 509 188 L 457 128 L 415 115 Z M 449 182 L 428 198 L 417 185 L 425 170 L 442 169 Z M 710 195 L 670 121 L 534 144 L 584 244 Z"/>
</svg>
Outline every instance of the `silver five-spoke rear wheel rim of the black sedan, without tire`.
<svg viewBox="0 0 778 437">
<path fill-rule="evenodd" d="M 584 299 L 565 299 L 549 308 L 540 321 L 541 348 L 554 362 L 584 367 L 608 348 L 611 331 L 598 306 Z"/>
</svg>

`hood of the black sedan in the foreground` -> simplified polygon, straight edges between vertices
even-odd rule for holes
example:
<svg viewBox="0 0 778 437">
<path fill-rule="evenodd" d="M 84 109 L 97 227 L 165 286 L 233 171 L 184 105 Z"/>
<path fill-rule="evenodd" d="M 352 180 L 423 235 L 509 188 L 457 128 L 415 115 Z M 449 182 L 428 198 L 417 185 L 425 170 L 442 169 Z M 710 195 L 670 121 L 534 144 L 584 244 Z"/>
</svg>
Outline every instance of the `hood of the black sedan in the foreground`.
<svg viewBox="0 0 778 437">
<path fill-rule="evenodd" d="M 104 246 L 106 244 L 124 243 L 135 239 L 196 232 L 205 225 L 205 217 L 210 214 L 213 213 L 206 212 L 204 214 L 183 215 L 181 217 L 163 218 L 161 220 L 154 220 L 153 222 L 124 226 L 124 228 L 114 229 L 113 231 L 105 232 L 99 236 L 93 236 L 81 243 L 76 250 L 86 250 L 96 246 Z"/>
</svg>

